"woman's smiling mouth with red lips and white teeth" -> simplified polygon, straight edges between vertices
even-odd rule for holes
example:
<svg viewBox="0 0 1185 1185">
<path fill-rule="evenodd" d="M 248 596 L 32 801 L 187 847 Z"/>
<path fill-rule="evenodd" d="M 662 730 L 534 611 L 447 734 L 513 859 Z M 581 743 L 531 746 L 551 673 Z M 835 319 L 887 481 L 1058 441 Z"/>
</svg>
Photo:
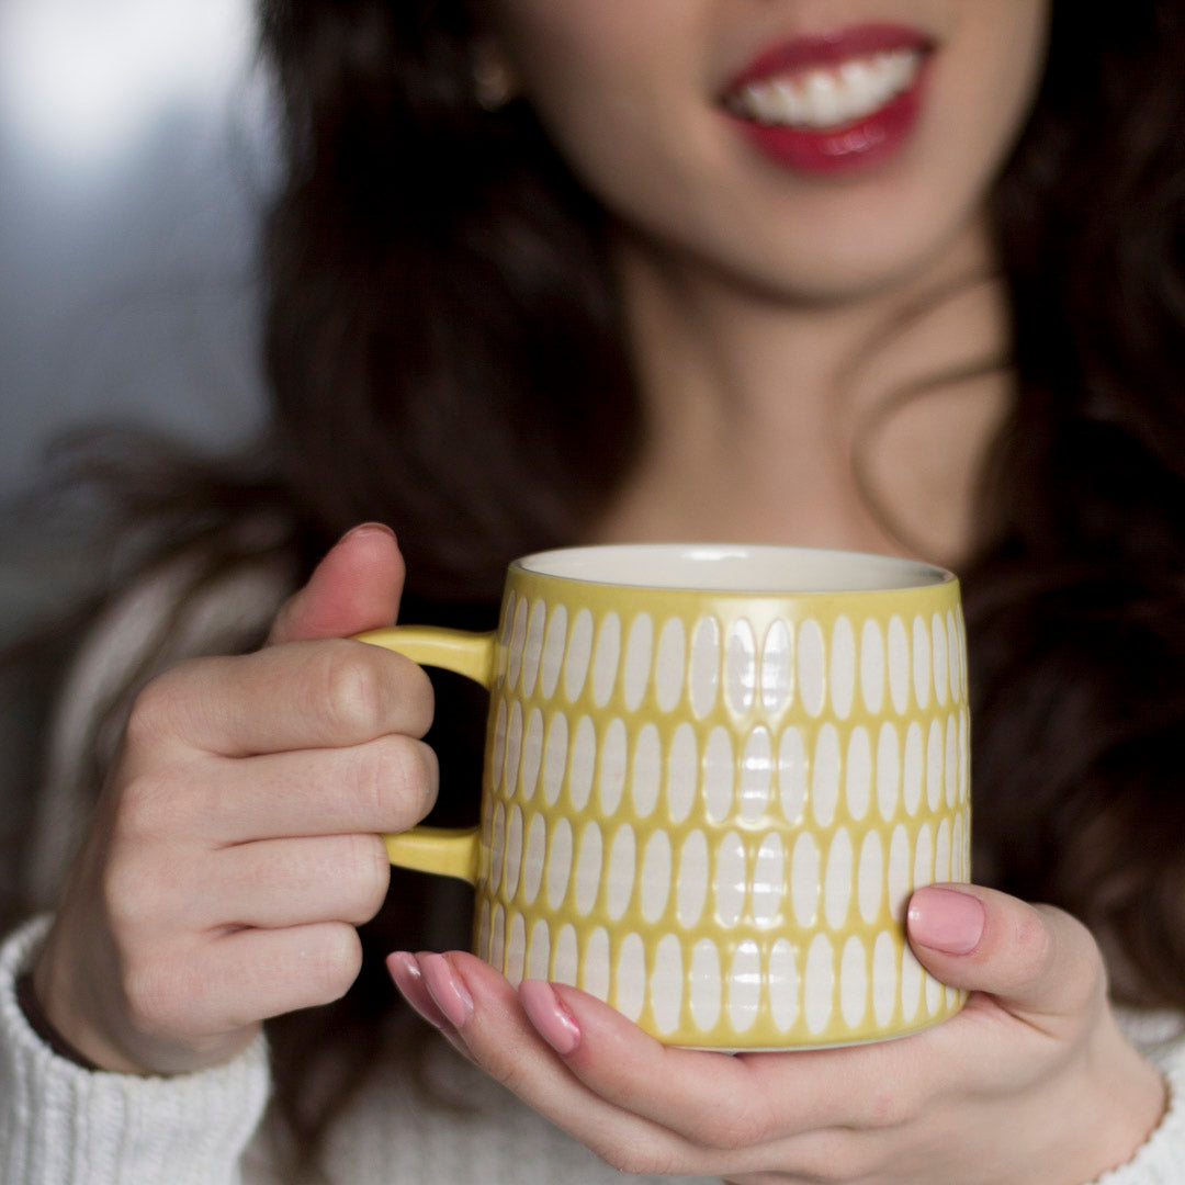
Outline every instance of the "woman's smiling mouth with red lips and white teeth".
<svg viewBox="0 0 1185 1185">
<path fill-rule="evenodd" d="M 910 30 L 859 26 L 758 57 L 724 110 L 776 162 L 807 173 L 869 167 L 912 129 L 931 46 Z"/>
</svg>

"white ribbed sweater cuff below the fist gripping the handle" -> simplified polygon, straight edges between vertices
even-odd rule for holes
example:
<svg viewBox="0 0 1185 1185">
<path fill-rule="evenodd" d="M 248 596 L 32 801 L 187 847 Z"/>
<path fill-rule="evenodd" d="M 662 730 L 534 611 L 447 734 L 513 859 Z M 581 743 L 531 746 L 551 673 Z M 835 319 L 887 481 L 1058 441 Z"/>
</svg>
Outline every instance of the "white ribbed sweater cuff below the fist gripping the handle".
<svg viewBox="0 0 1185 1185">
<path fill-rule="evenodd" d="M 17 1003 L 47 928 L 0 946 L 0 1185 L 237 1185 L 268 1096 L 263 1038 L 177 1077 L 91 1072 L 58 1057 Z"/>
</svg>

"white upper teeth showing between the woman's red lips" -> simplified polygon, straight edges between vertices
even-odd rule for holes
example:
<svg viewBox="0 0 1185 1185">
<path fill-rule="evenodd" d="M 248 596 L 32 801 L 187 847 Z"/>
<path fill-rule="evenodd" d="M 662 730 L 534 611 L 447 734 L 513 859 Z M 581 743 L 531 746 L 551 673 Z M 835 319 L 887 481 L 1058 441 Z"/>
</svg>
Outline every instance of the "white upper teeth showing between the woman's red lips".
<svg viewBox="0 0 1185 1185">
<path fill-rule="evenodd" d="M 853 58 L 838 68 L 815 68 L 751 82 L 728 97 L 737 115 L 793 128 L 833 128 L 871 115 L 909 90 L 922 66 L 916 49 Z"/>
</svg>

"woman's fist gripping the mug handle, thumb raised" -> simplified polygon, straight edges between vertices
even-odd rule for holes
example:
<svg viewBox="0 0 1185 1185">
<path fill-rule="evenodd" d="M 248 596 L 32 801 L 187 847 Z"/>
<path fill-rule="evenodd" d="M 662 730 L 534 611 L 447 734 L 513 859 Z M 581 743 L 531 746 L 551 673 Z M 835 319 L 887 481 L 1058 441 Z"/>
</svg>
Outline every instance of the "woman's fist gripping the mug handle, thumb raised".
<svg viewBox="0 0 1185 1185">
<path fill-rule="evenodd" d="M 428 678 L 342 640 L 390 624 L 402 589 L 395 537 L 356 529 L 262 651 L 184 662 L 136 698 L 33 973 L 101 1068 L 217 1064 L 353 982 L 356 927 L 390 880 L 379 833 L 436 796 Z"/>
</svg>

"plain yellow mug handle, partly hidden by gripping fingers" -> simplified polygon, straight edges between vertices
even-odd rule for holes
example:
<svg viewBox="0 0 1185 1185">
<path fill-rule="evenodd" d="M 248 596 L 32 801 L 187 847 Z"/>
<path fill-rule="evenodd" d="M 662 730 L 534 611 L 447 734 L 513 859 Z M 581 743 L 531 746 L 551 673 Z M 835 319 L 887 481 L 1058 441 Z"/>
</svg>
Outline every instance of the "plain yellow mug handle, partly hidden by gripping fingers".
<svg viewBox="0 0 1185 1185">
<path fill-rule="evenodd" d="M 476 634 L 442 626 L 387 626 L 356 634 L 354 640 L 473 679 L 486 691 L 494 681 L 494 633 Z M 390 861 L 401 869 L 478 883 L 476 827 L 411 827 L 383 837 Z"/>
</svg>

